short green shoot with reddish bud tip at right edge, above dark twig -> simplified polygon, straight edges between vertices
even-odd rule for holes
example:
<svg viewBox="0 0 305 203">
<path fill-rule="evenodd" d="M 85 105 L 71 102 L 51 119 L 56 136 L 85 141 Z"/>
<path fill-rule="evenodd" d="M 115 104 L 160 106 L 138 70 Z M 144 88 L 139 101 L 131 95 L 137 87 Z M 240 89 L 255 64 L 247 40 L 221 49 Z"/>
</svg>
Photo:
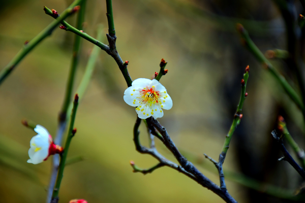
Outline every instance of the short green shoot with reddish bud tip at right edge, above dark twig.
<svg viewBox="0 0 305 203">
<path fill-rule="evenodd" d="M 286 122 L 284 121 L 284 119 L 283 120 L 279 119 L 279 126 L 282 127 L 284 137 L 288 141 L 289 145 L 292 147 L 295 155 L 297 156 L 297 158 L 301 162 L 302 167 L 305 168 L 305 154 L 304 154 L 304 150 L 301 149 L 298 146 L 298 144 L 293 140 L 291 134 L 288 131 L 288 128 L 287 128 L 287 125 L 286 125 Z"/>
</svg>

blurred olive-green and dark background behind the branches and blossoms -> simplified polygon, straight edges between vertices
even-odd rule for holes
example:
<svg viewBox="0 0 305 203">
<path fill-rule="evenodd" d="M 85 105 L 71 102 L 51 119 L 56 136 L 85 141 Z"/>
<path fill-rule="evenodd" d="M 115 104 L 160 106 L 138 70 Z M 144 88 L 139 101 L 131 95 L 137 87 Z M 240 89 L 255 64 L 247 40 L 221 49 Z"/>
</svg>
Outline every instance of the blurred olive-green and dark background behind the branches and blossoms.
<svg viewBox="0 0 305 203">
<path fill-rule="evenodd" d="M 61 13 L 72 1 L 0 3 L 2 69 L 26 40 L 33 39 L 53 20 L 44 13 L 43 6 Z M 296 15 L 302 12 L 298 1 L 295 8 Z M 304 148 L 301 113 L 241 45 L 235 30 L 236 23 L 242 23 L 263 53 L 286 49 L 285 25 L 276 4 L 263 0 L 117 0 L 113 1 L 113 12 L 116 46 L 121 58 L 130 61 L 128 69 L 133 80 L 152 78 L 160 70 L 161 58 L 168 61 L 169 71 L 161 83 L 173 99 L 173 108 L 158 120 L 185 156 L 217 184 L 216 168 L 203 158 L 203 153 L 218 159 L 240 98 L 242 74 L 250 65 L 243 118 L 224 163 L 228 191 L 239 202 L 293 202 L 286 194 L 298 192 L 302 182 L 292 166 L 277 161 L 281 153 L 270 132 L 281 114 L 293 138 Z M 87 1 L 85 32 L 96 37 L 98 24 L 107 27 L 105 13 L 105 1 Z M 67 21 L 75 24 L 75 20 L 74 15 Z M 29 141 L 36 133 L 20 121 L 33 120 L 55 136 L 73 40 L 73 33 L 55 29 L 0 86 L 0 202 L 45 202 L 51 158 L 38 165 L 26 163 Z M 75 90 L 92 48 L 93 44 L 83 40 Z M 288 74 L 294 86 L 294 77 L 285 63 L 272 63 Z M 74 198 L 89 203 L 223 202 L 168 167 L 146 176 L 132 173 L 130 160 L 141 168 L 157 161 L 135 150 L 132 130 L 136 112 L 123 100 L 126 88 L 115 61 L 102 51 L 78 108 L 78 131 L 68 154 L 84 160 L 65 168 L 59 202 Z M 140 129 L 141 141 L 146 144 L 143 124 Z M 157 148 L 174 160 L 158 141 Z"/>
</svg>

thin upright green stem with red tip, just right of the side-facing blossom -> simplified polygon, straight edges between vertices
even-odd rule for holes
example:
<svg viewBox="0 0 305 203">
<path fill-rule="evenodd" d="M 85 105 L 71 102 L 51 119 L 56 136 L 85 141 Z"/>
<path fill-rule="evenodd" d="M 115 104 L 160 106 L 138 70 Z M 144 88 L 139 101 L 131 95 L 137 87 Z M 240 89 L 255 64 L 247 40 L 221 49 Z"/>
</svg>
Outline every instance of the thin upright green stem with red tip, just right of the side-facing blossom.
<svg viewBox="0 0 305 203">
<path fill-rule="evenodd" d="M 78 95 L 76 94 L 75 98 L 74 98 L 74 102 L 73 102 L 73 109 L 72 109 L 72 113 L 71 113 L 71 120 L 70 120 L 70 126 L 69 126 L 69 130 L 68 130 L 68 136 L 67 136 L 67 140 L 66 140 L 66 144 L 65 144 L 65 148 L 64 148 L 64 153 L 61 155 L 61 158 L 60 158 L 59 170 L 58 170 L 56 184 L 55 184 L 55 187 L 53 190 L 52 199 L 58 198 L 59 187 L 60 187 L 60 183 L 62 183 L 62 179 L 63 179 L 63 173 L 64 173 L 64 169 L 65 169 L 65 165 L 66 165 L 67 154 L 69 151 L 71 140 L 74 137 L 74 134 L 76 132 L 76 129 L 73 129 L 73 127 L 74 127 L 77 106 L 78 106 Z"/>
</svg>

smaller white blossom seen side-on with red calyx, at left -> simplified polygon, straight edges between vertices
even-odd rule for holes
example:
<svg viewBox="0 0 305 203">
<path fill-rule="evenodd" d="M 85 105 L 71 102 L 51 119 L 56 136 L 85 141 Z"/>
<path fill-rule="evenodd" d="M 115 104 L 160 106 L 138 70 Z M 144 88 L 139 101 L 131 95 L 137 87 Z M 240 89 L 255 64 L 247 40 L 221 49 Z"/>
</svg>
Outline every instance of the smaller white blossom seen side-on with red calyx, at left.
<svg viewBox="0 0 305 203">
<path fill-rule="evenodd" d="M 46 128 L 41 125 L 36 125 L 34 130 L 38 134 L 29 142 L 31 148 L 28 150 L 28 163 L 41 163 L 47 160 L 50 155 L 63 151 L 62 147 L 53 143 L 53 139 Z"/>
</svg>

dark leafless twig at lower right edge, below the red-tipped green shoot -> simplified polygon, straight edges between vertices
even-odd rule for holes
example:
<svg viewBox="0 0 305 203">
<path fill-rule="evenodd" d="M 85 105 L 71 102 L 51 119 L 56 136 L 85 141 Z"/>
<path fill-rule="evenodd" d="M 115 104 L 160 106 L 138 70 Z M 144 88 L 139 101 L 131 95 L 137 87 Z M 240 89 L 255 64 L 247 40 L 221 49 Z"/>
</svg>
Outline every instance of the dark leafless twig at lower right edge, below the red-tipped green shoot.
<svg viewBox="0 0 305 203">
<path fill-rule="evenodd" d="M 299 173 L 299 175 L 305 180 L 304 169 L 295 162 L 295 160 L 291 157 L 291 155 L 287 151 L 287 149 L 283 143 L 283 137 L 279 138 L 275 130 L 273 130 L 271 132 L 271 134 L 272 134 L 272 137 L 278 142 L 280 150 L 284 154 L 284 157 L 282 157 L 281 160 L 285 160 L 288 163 L 290 163 L 290 165 L 292 165 L 292 167 L 294 167 L 294 169 L 297 171 L 297 173 Z"/>
</svg>

